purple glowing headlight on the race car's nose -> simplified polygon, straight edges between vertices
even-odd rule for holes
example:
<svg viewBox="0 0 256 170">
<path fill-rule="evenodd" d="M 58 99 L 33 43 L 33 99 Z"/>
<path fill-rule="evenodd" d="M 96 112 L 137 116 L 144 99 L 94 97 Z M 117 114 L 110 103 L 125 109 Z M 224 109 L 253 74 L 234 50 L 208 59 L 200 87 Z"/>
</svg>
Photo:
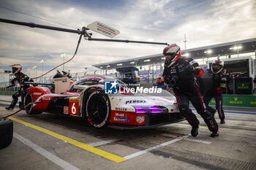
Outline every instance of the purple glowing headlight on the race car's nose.
<svg viewBox="0 0 256 170">
<path fill-rule="evenodd" d="M 142 107 L 133 106 L 136 113 L 167 113 L 168 109 L 166 107 L 153 106 L 153 107 Z"/>
</svg>

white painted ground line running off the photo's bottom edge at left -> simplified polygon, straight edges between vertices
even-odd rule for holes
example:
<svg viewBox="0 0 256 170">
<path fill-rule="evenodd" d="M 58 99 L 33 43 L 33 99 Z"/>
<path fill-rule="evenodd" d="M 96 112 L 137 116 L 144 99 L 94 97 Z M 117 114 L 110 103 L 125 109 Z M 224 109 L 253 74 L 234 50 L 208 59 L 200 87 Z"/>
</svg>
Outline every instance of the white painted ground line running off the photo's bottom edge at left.
<svg viewBox="0 0 256 170">
<path fill-rule="evenodd" d="M 51 152 L 48 152 L 47 150 L 43 149 L 42 147 L 39 147 L 37 144 L 34 144 L 33 142 L 29 141 L 29 139 L 24 138 L 23 136 L 20 136 L 19 134 L 16 134 L 13 132 L 13 136 L 18 139 L 23 144 L 26 144 L 26 146 L 31 147 L 31 149 L 38 152 L 40 155 L 44 156 L 45 158 L 48 158 L 49 161 L 52 161 L 53 163 L 56 163 L 56 165 L 61 166 L 62 169 L 66 170 L 80 170 L 77 167 L 73 166 L 72 164 L 68 163 L 67 161 L 64 161 L 63 159 L 59 158 L 56 155 L 53 155 Z"/>
</svg>

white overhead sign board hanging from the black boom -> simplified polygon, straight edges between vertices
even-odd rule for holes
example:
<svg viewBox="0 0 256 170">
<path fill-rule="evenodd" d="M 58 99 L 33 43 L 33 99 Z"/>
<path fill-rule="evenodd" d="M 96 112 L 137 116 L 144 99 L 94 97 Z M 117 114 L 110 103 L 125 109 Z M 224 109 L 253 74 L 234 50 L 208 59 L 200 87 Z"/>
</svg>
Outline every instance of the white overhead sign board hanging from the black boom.
<svg viewBox="0 0 256 170">
<path fill-rule="evenodd" d="M 87 28 L 110 38 L 113 38 L 120 33 L 120 31 L 118 31 L 117 29 L 107 26 L 104 23 L 100 23 L 99 21 L 95 21 L 94 23 L 89 24 Z"/>
</svg>

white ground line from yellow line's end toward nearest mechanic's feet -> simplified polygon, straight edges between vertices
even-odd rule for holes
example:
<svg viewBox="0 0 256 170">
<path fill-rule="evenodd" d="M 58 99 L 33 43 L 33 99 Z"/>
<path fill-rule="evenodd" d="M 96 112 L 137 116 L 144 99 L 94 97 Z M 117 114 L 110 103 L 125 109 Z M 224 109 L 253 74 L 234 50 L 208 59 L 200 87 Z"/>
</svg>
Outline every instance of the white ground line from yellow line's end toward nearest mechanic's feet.
<svg viewBox="0 0 256 170">
<path fill-rule="evenodd" d="M 157 148 L 159 148 L 159 147 L 165 147 L 165 146 L 168 145 L 168 144 L 173 144 L 174 142 L 178 142 L 178 141 L 180 141 L 180 140 L 182 140 L 182 139 L 186 139 L 187 137 L 189 137 L 189 135 L 185 135 L 185 136 L 182 136 L 181 138 L 173 139 L 173 140 L 171 140 L 171 141 L 168 141 L 168 142 L 159 144 L 159 145 L 157 145 L 157 146 L 155 146 L 155 147 L 149 147 L 149 148 L 146 149 L 146 150 L 141 150 L 141 151 L 139 151 L 139 152 L 132 153 L 131 155 L 127 155 L 127 156 L 124 157 L 124 159 L 135 158 L 135 157 L 137 157 L 137 156 L 139 156 L 139 155 L 143 155 L 144 153 L 150 152 L 151 150 L 155 150 L 155 149 L 157 149 Z"/>
</svg>

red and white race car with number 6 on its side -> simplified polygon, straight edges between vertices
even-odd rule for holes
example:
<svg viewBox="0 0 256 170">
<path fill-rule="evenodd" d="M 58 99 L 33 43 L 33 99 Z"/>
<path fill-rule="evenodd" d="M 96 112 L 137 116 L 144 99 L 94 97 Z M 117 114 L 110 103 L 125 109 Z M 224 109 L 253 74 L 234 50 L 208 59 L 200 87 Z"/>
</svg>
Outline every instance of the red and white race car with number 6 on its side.
<svg viewBox="0 0 256 170">
<path fill-rule="evenodd" d="M 117 93 L 105 93 L 106 82 L 115 82 Z M 132 93 L 116 77 L 99 75 L 88 75 L 75 83 L 67 77 L 56 78 L 53 85 L 54 92 L 48 87 L 26 89 L 23 108 L 27 114 L 84 117 L 94 128 L 147 128 L 184 120 L 176 98 L 166 90 L 158 96 Z"/>
</svg>

